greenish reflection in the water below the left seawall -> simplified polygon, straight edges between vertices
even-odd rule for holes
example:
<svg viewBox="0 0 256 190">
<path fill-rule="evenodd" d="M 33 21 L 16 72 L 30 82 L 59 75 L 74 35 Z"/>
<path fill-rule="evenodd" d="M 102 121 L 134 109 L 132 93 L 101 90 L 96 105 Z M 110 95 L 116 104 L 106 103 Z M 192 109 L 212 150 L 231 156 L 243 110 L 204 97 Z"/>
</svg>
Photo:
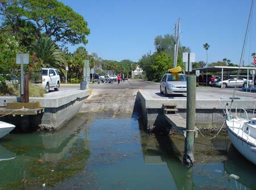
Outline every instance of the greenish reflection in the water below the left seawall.
<svg viewBox="0 0 256 190">
<path fill-rule="evenodd" d="M 55 187 L 81 172 L 89 158 L 88 121 L 77 115 L 56 133 L 11 134 L 1 146 L 15 152 L 16 159 L 1 164 L 0 189 Z M 0 149 L 1 151 L 2 149 Z"/>
</svg>

